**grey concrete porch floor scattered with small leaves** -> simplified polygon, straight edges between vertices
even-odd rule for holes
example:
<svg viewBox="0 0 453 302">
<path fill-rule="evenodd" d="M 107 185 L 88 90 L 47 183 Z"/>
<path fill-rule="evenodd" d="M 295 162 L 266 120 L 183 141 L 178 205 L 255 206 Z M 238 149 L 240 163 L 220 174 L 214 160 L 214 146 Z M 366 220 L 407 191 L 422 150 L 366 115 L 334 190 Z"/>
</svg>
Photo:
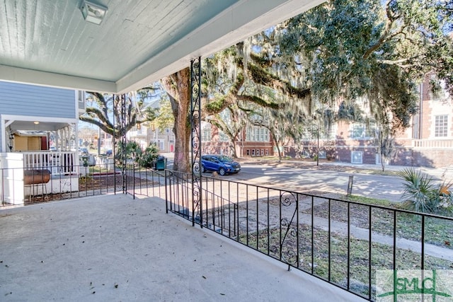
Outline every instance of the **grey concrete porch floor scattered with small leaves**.
<svg viewBox="0 0 453 302">
<path fill-rule="evenodd" d="M 364 301 L 111 194 L 0 209 L 0 301 Z"/>
</svg>

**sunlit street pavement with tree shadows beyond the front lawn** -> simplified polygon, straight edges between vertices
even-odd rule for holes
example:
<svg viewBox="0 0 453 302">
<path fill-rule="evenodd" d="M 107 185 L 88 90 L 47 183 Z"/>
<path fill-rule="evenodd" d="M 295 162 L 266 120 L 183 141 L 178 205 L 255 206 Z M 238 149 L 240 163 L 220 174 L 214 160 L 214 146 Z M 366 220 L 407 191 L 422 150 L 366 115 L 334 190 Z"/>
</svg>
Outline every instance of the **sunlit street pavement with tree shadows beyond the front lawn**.
<svg viewBox="0 0 453 302">
<path fill-rule="evenodd" d="M 167 168 L 172 168 L 173 153 L 162 154 L 168 158 Z M 300 161 L 277 158 L 239 158 L 242 170 L 236 175 L 227 175 L 225 180 L 282 187 L 299 192 L 333 192 L 346 194 L 352 176 L 352 194 L 402 202 L 403 180 L 396 175 L 381 175 L 381 165 L 339 163 L 336 161 Z M 411 168 L 401 165 L 385 165 L 386 171 Z M 436 182 L 453 182 L 453 167 L 414 167 L 430 175 Z M 206 173 L 210 176 L 210 173 Z"/>
</svg>

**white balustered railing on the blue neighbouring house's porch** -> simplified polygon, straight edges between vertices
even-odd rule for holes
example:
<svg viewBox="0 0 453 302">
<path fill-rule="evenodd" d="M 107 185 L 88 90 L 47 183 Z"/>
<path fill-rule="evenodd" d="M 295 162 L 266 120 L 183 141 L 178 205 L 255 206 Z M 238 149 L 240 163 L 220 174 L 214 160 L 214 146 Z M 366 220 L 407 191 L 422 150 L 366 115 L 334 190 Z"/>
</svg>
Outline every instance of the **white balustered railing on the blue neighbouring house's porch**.
<svg viewBox="0 0 453 302">
<path fill-rule="evenodd" d="M 50 170 L 52 175 L 77 173 L 79 156 L 73 151 L 35 151 L 23 153 L 23 168 Z"/>
</svg>

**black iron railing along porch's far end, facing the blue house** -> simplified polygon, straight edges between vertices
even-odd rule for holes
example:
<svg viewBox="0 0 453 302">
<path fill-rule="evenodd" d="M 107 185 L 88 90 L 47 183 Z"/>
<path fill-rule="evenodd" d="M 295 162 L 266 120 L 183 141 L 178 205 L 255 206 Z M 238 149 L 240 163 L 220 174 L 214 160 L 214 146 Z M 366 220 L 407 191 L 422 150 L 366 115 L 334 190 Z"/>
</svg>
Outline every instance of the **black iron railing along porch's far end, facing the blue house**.
<svg viewBox="0 0 453 302">
<path fill-rule="evenodd" d="M 127 165 L 125 172 L 102 166 L 72 165 L 73 172 L 63 168 L 54 165 L 53 173 L 46 168 L 1 168 L 0 207 L 123 192 L 164 197 L 164 172 L 135 165 Z"/>
</svg>

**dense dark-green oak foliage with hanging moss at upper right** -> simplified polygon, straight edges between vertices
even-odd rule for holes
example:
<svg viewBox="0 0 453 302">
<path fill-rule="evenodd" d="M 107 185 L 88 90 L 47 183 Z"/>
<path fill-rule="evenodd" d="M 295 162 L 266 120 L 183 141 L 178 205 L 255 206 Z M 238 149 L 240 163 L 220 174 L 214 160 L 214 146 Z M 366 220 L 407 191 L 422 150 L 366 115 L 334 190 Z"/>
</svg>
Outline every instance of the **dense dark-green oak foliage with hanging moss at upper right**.
<svg viewBox="0 0 453 302">
<path fill-rule="evenodd" d="M 453 91 L 447 35 L 452 6 L 432 0 L 328 1 L 275 28 L 276 57 L 300 71 L 314 99 L 334 107 L 338 100 L 351 106 L 365 97 L 374 118 L 395 132 L 416 112 L 416 84 L 425 74 L 433 71 Z"/>
</svg>

